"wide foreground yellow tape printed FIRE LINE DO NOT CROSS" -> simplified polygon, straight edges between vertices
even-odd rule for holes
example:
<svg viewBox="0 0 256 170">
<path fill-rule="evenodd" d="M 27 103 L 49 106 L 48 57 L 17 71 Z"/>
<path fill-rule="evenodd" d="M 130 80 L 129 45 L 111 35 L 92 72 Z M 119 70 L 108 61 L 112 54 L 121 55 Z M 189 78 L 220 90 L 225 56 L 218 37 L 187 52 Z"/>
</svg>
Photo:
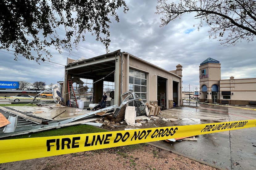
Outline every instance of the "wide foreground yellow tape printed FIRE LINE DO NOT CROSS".
<svg viewBox="0 0 256 170">
<path fill-rule="evenodd" d="M 0 163 L 195 136 L 256 126 L 256 119 L 200 125 L 0 140 Z"/>
</svg>

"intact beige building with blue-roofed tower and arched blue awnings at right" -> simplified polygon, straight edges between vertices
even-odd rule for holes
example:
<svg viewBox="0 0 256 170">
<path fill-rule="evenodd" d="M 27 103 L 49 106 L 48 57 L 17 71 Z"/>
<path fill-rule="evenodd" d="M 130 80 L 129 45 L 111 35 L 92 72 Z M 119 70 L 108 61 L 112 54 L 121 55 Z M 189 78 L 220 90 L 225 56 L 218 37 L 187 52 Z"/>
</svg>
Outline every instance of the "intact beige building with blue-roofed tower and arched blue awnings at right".
<svg viewBox="0 0 256 170">
<path fill-rule="evenodd" d="M 256 78 L 221 80 L 221 64 L 207 58 L 199 66 L 200 101 L 231 105 L 256 105 Z"/>
</svg>

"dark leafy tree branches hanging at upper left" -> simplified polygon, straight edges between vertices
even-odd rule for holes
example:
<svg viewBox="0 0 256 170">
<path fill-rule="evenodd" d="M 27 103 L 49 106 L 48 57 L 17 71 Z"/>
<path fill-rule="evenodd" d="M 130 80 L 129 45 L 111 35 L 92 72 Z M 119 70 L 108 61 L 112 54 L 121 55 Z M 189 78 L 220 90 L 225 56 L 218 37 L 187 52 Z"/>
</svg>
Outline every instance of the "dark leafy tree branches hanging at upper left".
<svg viewBox="0 0 256 170">
<path fill-rule="evenodd" d="M 124 13 L 129 10 L 124 0 L 2 0 L 0 48 L 14 49 L 14 60 L 21 54 L 29 60 L 45 61 L 52 57 L 47 47 L 60 53 L 62 48 L 72 50 L 72 43 L 77 46 L 91 33 L 108 51 L 109 25 L 119 22 L 116 10 L 121 6 Z"/>
</svg>

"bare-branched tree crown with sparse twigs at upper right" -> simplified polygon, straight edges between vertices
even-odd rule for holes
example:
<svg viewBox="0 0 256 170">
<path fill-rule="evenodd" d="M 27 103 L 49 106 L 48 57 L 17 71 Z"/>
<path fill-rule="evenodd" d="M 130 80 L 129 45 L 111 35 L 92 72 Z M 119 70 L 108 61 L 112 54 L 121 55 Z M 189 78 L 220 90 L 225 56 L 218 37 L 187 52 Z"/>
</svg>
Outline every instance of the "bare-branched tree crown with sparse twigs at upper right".
<svg viewBox="0 0 256 170">
<path fill-rule="evenodd" d="M 195 13 L 200 19 L 198 30 L 206 22 L 211 27 L 209 38 L 221 37 L 221 44 L 235 45 L 242 39 L 251 42 L 256 35 L 255 0 L 180 0 L 178 4 L 158 0 L 156 9 L 156 14 L 163 15 L 160 26 Z"/>
</svg>

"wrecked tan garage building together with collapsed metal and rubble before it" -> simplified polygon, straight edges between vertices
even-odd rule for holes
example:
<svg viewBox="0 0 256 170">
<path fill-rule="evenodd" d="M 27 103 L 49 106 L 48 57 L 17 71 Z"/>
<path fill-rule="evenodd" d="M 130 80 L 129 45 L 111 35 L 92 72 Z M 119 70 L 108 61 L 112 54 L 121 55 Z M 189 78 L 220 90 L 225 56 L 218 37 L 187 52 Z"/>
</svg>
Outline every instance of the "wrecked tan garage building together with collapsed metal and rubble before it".
<svg viewBox="0 0 256 170">
<path fill-rule="evenodd" d="M 1 107 L 0 138 L 93 122 L 109 128 L 122 122 L 134 125 L 182 105 L 181 65 L 167 71 L 120 50 L 90 59 L 68 59 L 65 79 L 58 83 L 52 87 L 54 105 L 35 101 L 39 93 L 28 102 L 37 108 Z M 106 107 L 95 109 L 104 92 Z"/>
</svg>

